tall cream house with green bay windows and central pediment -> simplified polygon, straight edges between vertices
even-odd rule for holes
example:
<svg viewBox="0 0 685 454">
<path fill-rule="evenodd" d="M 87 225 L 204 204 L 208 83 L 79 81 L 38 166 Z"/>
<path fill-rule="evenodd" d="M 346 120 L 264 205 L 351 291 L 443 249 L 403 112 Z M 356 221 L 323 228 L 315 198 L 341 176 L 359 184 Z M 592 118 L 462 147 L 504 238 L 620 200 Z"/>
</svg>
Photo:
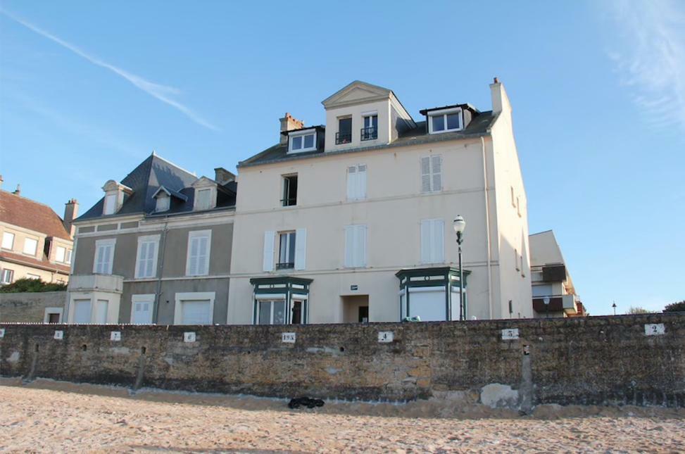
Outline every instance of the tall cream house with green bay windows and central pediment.
<svg viewBox="0 0 685 454">
<path fill-rule="evenodd" d="M 532 317 L 511 106 L 490 92 L 491 111 L 451 101 L 418 121 L 356 81 L 322 101 L 325 125 L 281 118 L 278 143 L 238 165 L 226 322 Z"/>
</svg>

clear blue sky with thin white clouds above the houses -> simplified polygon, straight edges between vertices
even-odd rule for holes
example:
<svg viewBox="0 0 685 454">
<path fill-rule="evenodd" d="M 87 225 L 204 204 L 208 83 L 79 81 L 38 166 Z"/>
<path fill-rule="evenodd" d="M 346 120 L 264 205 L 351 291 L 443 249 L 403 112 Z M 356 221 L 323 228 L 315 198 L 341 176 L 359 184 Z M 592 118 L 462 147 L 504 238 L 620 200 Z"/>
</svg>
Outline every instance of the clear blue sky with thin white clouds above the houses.
<svg viewBox="0 0 685 454">
<path fill-rule="evenodd" d="M 156 150 L 199 175 L 352 80 L 421 108 L 513 103 L 531 232 L 593 315 L 685 298 L 682 1 L 0 1 L 4 189 L 63 212 Z"/>
</svg>

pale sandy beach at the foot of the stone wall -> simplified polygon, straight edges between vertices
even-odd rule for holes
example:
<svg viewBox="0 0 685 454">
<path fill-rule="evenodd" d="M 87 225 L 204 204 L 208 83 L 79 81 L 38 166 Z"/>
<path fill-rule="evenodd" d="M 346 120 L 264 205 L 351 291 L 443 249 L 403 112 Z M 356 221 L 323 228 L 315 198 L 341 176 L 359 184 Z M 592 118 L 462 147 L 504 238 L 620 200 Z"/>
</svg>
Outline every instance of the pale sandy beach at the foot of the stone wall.
<svg viewBox="0 0 685 454">
<path fill-rule="evenodd" d="M 436 415 L 441 417 L 435 417 Z M 447 403 L 330 403 L 0 381 L 2 452 L 685 450 L 685 410 L 543 406 L 532 416 Z"/>
</svg>

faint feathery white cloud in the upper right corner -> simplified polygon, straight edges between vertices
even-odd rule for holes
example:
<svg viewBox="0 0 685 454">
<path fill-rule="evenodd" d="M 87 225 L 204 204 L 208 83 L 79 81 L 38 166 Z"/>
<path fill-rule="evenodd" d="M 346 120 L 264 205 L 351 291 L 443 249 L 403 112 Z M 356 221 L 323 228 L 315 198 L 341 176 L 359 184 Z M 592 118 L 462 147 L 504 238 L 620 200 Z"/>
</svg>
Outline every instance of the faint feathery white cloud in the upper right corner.
<svg viewBox="0 0 685 454">
<path fill-rule="evenodd" d="M 610 3 L 621 49 L 609 53 L 637 106 L 655 127 L 685 130 L 685 3 Z"/>
</svg>

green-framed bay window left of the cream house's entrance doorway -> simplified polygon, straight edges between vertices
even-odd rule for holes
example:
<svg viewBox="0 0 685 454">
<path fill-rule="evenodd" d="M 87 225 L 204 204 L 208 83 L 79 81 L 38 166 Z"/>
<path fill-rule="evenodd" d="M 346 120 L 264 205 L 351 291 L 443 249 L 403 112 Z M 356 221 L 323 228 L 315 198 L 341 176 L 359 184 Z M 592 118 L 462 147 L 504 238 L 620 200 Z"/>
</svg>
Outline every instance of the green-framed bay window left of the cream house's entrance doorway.
<svg viewBox="0 0 685 454">
<path fill-rule="evenodd" d="M 309 286 L 313 279 L 259 277 L 250 279 L 253 292 L 253 324 L 307 324 Z"/>
</svg>

